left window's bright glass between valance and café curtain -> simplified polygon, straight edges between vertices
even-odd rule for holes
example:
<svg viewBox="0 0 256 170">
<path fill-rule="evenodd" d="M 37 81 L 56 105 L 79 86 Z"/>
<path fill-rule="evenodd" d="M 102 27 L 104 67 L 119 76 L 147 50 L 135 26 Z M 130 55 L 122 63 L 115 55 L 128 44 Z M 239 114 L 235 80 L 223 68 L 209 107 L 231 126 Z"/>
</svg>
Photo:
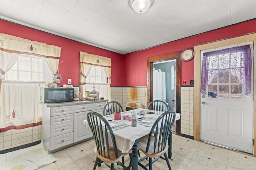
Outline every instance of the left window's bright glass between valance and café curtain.
<svg viewBox="0 0 256 170">
<path fill-rule="evenodd" d="M 44 58 L 20 54 L 16 63 L 5 76 L 5 80 L 52 81 L 52 72 Z"/>
</svg>

